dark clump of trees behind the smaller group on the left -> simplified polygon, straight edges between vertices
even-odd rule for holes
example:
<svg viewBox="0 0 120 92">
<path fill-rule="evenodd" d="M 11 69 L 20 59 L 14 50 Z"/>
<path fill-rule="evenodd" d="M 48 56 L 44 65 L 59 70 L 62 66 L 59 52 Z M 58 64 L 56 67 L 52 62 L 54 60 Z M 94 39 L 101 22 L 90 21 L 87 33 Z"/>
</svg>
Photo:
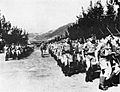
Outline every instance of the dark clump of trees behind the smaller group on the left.
<svg viewBox="0 0 120 92">
<path fill-rule="evenodd" d="M 10 21 L 6 21 L 4 15 L 0 16 L 0 39 L 5 44 L 21 44 L 26 45 L 28 43 L 28 33 L 22 28 L 12 26 Z"/>
</svg>

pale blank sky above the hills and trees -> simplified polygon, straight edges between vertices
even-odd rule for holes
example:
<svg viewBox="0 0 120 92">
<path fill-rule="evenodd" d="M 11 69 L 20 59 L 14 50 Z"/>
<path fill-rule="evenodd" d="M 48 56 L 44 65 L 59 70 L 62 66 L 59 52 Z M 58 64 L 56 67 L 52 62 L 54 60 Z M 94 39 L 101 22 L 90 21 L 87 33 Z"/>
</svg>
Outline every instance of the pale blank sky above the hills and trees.
<svg viewBox="0 0 120 92">
<path fill-rule="evenodd" d="M 93 0 L 95 2 L 97 0 Z M 102 2 L 105 0 L 101 0 Z M 1 15 L 29 33 L 45 33 L 75 22 L 90 0 L 0 0 Z"/>
</svg>

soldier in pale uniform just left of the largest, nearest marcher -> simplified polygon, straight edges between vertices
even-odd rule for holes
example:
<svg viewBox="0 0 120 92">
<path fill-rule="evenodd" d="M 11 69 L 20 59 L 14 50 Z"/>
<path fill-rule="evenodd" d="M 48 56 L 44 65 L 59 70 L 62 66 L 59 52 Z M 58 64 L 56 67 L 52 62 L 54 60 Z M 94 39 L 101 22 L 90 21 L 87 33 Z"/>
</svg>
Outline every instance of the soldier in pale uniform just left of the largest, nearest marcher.
<svg viewBox="0 0 120 92">
<path fill-rule="evenodd" d="M 86 61 L 86 81 L 92 82 L 92 66 L 97 64 L 95 61 L 96 40 L 90 38 L 83 46 L 83 60 Z"/>
</svg>

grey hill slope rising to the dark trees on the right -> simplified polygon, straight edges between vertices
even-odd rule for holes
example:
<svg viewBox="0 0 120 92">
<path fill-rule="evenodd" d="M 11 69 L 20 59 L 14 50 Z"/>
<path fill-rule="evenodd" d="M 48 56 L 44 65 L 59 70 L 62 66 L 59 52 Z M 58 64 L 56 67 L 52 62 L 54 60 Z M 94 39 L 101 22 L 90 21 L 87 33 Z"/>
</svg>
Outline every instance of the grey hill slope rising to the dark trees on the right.
<svg viewBox="0 0 120 92">
<path fill-rule="evenodd" d="M 65 31 L 67 31 L 68 26 L 70 26 L 72 23 L 69 23 L 67 25 L 64 25 L 62 27 L 59 27 L 56 30 L 50 30 L 47 33 L 41 34 L 41 35 L 37 35 L 34 39 L 38 40 L 38 41 L 45 41 L 47 39 L 50 39 L 52 37 L 55 37 L 57 35 L 63 35 L 65 33 Z"/>
</svg>

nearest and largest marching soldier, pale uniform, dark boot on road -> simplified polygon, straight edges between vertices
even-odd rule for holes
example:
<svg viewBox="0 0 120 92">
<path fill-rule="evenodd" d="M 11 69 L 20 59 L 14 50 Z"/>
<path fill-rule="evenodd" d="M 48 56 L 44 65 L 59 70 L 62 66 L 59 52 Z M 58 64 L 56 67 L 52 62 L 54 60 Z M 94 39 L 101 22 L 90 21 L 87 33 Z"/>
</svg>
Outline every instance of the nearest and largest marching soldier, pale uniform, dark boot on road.
<svg viewBox="0 0 120 92">
<path fill-rule="evenodd" d="M 104 39 L 102 42 L 100 42 L 97 46 L 97 49 L 95 51 L 95 58 L 96 61 L 99 62 L 100 68 L 101 68 L 101 74 L 100 74 L 100 83 L 99 83 L 99 89 L 101 90 L 107 90 L 108 86 L 105 85 L 105 81 L 110 78 L 112 67 L 111 67 L 111 60 L 112 60 L 112 47 L 111 43 L 108 39 Z"/>
</svg>

